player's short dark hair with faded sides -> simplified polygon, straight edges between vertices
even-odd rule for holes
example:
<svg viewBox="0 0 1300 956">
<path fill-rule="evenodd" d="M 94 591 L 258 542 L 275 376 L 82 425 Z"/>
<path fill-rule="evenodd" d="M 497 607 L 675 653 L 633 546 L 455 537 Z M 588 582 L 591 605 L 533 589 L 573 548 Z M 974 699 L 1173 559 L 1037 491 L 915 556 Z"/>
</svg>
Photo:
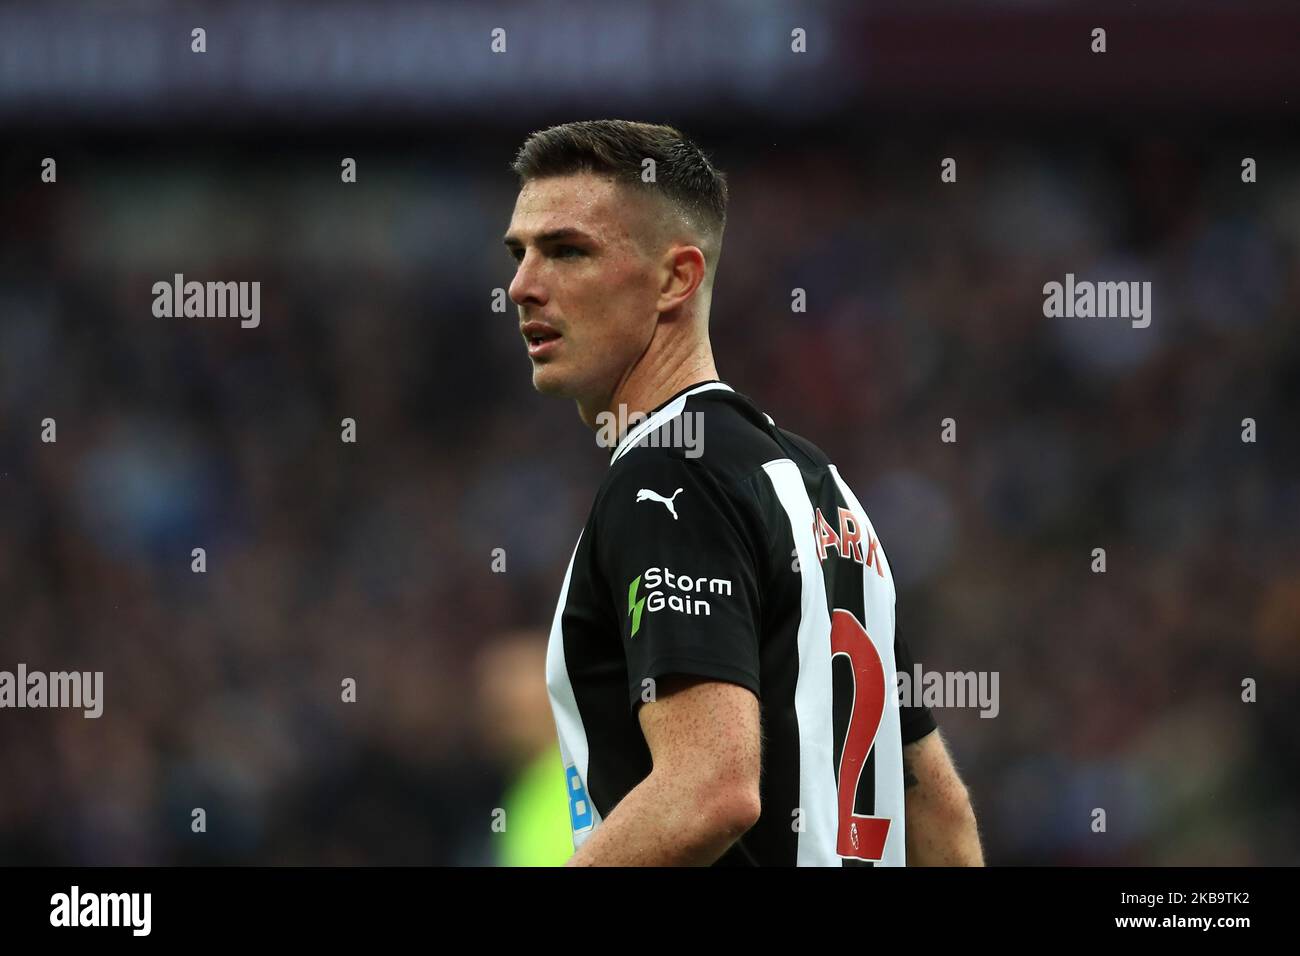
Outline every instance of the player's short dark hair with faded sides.
<svg viewBox="0 0 1300 956">
<path fill-rule="evenodd" d="M 654 183 L 641 179 L 646 159 L 654 160 Z M 632 187 L 656 190 L 714 241 L 715 256 L 722 247 L 727 176 L 672 126 L 630 120 L 581 120 L 551 126 L 524 142 L 511 169 L 520 186 L 551 176 L 598 173 Z"/>
</svg>

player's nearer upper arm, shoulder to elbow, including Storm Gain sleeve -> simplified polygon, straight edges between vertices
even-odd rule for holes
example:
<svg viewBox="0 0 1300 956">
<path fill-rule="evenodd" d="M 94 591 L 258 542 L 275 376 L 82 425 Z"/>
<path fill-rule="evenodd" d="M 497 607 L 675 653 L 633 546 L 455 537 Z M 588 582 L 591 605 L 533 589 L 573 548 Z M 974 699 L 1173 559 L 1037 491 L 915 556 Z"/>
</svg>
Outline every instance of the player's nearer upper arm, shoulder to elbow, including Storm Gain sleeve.
<svg viewBox="0 0 1300 956">
<path fill-rule="evenodd" d="M 597 561 L 651 786 L 681 826 L 738 836 L 760 810 L 754 528 L 702 462 L 637 449 L 615 470 L 597 502 Z"/>
</svg>

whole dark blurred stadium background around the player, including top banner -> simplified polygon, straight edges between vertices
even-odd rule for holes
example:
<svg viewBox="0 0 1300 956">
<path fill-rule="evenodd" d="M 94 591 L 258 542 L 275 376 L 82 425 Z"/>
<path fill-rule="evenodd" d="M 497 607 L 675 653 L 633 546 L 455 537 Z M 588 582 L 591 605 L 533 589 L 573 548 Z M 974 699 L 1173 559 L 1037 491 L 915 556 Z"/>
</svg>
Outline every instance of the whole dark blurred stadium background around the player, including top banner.
<svg viewBox="0 0 1300 956">
<path fill-rule="evenodd" d="M 936 713 L 988 860 L 1296 862 L 1300 9 L 924 7 L 0 9 L 0 669 L 105 672 L 0 710 L 0 862 L 493 860 L 478 656 L 607 458 L 491 311 L 508 163 L 594 117 L 728 173 L 722 377 L 854 485 L 916 659 L 1000 674 Z M 155 317 L 176 272 L 261 325 Z M 1150 326 L 1045 319 L 1067 272 Z"/>
</svg>

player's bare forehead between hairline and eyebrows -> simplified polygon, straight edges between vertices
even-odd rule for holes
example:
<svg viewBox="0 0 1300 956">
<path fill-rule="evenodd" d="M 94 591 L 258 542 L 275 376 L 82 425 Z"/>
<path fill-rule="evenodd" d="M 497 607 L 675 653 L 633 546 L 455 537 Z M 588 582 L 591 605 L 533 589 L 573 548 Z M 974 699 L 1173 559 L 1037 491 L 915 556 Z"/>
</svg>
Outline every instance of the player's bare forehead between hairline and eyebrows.
<svg viewBox="0 0 1300 956">
<path fill-rule="evenodd" d="M 510 235 L 526 242 L 536 233 L 581 229 L 610 242 L 632 237 L 646 216 L 645 200 L 608 176 L 573 173 L 524 183 L 515 200 Z"/>
</svg>

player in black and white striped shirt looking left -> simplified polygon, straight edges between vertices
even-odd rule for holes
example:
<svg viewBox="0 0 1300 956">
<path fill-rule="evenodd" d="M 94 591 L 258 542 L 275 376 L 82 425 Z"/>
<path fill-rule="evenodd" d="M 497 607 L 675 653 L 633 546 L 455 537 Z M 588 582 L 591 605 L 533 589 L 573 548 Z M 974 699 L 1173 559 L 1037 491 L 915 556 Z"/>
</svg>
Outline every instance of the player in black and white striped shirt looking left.
<svg viewBox="0 0 1300 956">
<path fill-rule="evenodd" d="M 871 522 L 718 377 L 724 176 L 627 121 L 536 133 L 514 169 L 533 385 L 610 446 L 546 661 L 569 862 L 982 864 L 933 717 L 900 706 L 911 658 Z"/>
</svg>

